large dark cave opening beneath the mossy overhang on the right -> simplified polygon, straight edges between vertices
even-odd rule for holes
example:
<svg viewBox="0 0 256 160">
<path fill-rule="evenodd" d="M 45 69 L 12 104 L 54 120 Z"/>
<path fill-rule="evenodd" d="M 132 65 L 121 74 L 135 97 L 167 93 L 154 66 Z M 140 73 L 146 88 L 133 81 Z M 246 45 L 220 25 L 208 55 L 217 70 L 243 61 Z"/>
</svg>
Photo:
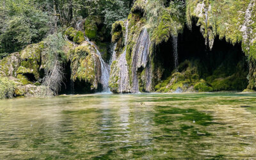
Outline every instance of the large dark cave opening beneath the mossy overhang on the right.
<svg viewBox="0 0 256 160">
<path fill-rule="evenodd" d="M 156 68 L 160 68 L 163 73 L 161 80 L 167 79 L 175 71 L 173 48 L 172 37 L 154 47 Z M 184 31 L 179 34 L 177 48 L 179 64 L 191 62 L 200 79 L 214 84 L 214 90 L 244 90 L 248 85 L 248 62 L 241 43 L 233 45 L 226 42 L 225 37 L 220 40 L 217 36 L 212 49 L 209 49 L 200 33 L 200 26 L 196 26 L 194 21 L 191 29 L 185 26 Z M 185 65 L 179 66 L 179 72 L 188 68 Z"/>
</svg>

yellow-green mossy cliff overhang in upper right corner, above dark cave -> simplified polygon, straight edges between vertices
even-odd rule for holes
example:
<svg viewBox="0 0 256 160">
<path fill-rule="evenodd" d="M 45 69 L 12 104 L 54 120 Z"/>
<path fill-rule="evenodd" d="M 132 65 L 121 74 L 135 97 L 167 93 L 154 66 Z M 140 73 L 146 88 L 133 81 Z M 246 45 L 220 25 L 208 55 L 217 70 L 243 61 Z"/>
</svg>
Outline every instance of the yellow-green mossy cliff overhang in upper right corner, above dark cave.
<svg viewBox="0 0 256 160">
<path fill-rule="evenodd" d="M 186 17 L 191 26 L 193 17 L 198 18 L 202 34 L 212 47 L 219 35 L 227 42 L 242 42 L 243 51 L 255 58 L 256 1 L 187 1 Z"/>
</svg>

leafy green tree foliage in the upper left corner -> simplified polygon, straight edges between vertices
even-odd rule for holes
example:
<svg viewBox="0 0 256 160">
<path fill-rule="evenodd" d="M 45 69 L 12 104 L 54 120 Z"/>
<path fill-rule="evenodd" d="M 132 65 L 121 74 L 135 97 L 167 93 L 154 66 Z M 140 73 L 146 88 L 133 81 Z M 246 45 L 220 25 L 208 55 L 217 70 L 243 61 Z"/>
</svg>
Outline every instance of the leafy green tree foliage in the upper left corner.
<svg viewBox="0 0 256 160">
<path fill-rule="evenodd" d="M 51 15 L 28 0 L 6 0 L 6 7 L 0 7 L 0 21 L 4 22 L 0 24 L 0 56 L 39 42 L 52 26 Z"/>
</svg>

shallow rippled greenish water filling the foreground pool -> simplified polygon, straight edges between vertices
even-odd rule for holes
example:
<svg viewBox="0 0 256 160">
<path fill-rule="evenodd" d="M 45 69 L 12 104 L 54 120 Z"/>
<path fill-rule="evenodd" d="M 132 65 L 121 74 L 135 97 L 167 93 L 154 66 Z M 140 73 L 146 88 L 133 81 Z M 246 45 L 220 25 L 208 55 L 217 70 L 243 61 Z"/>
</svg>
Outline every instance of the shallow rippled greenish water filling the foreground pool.
<svg viewBox="0 0 256 160">
<path fill-rule="evenodd" d="M 151 93 L 0 100 L 0 159 L 47 158 L 253 159 L 256 96 Z"/>
</svg>

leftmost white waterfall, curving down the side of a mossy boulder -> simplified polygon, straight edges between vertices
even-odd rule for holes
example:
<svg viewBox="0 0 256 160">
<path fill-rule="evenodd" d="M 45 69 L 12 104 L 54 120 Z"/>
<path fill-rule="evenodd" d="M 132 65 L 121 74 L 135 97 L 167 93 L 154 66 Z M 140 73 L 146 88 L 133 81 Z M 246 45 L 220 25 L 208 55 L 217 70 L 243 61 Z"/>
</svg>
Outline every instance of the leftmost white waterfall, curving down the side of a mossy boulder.
<svg viewBox="0 0 256 160">
<path fill-rule="evenodd" d="M 108 86 L 108 81 L 109 81 L 109 65 L 107 63 L 104 62 L 104 60 L 102 59 L 102 56 L 99 52 L 99 50 L 97 49 L 97 46 L 95 44 L 93 44 L 93 42 L 91 42 L 89 40 L 89 38 L 87 38 L 86 36 L 84 36 L 86 42 L 88 42 L 89 44 L 93 45 L 96 49 L 96 53 L 99 56 L 100 59 L 100 71 L 101 71 L 101 76 L 100 76 L 100 84 L 102 84 L 102 88 L 103 88 L 103 92 L 110 92 L 109 86 Z"/>
</svg>

